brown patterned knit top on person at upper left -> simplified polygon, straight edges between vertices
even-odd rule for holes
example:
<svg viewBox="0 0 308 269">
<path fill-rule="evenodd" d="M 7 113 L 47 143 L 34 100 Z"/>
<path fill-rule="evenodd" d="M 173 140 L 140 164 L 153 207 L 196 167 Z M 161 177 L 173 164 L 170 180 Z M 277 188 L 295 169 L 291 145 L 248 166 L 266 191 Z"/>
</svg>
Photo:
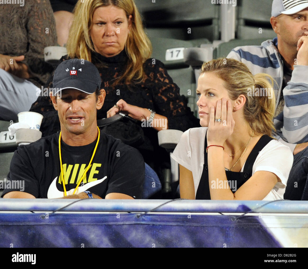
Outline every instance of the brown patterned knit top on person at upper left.
<svg viewBox="0 0 308 269">
<path fill-rule="evenodd" d="M 21 63 L 29 67 L 28 80 L 41 88 L 53 69 L 44 61 L 44 47 L 57 45 L 55 18 L 49 0 L 27 0 L 23 1 L 24 6 L 20 4 L 0 5 L 0 53 L 25 55 Z"/>
</svg>

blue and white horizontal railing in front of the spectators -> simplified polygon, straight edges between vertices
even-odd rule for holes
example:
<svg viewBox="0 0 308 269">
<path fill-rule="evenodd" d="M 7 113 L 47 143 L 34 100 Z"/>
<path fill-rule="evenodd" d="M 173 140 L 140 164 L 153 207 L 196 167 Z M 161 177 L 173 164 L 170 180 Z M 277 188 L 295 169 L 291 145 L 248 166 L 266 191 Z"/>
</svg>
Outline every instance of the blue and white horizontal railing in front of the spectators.
<svg viewBox="0 0 308 269">
<path fill-rule="evenodd" d="M 62 209 L 61 209 L 62 208 Z M 156 208 L 156 209 L 155 209 Z M 308 201 L 1 199 L 0 211 L 307 213 Z"/>
</svg>

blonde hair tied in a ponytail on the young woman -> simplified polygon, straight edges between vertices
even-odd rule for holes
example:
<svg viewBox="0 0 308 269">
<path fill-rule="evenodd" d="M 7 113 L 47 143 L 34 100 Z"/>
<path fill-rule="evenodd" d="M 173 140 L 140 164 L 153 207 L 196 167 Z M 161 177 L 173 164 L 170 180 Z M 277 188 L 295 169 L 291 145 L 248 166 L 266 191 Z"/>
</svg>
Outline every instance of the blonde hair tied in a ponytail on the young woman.
<svg viewBox="0 0 308 269">
<path fill-rule="evenodd" d="M 253 131 L 252 135 L 272 136 L 275 130 L 273 118 L 276 102 L 274 79 L 270 75 L 253 75 L 244 63 L 226 58 L 203 63 L 201 74 L 205 72 L 213 72 L 225 81 L 224 87 L 228 90 L 231 100 L 236 100 L 241 94 L 246 97 L 243 115 Z"/>
</svg>

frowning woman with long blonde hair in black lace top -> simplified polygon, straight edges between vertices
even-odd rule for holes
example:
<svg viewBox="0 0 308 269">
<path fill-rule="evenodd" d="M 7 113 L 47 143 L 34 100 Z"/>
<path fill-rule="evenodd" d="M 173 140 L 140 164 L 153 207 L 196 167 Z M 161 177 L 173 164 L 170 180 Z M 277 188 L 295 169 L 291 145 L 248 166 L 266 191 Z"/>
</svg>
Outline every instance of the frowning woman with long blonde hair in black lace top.
<svg viewBox="0 0 308 269">
<path fill-rule="evenodd" d="M 85 10 L 92 10 L 92 14 L 86 14 Z M 85 27 L 88 32 L 83 31 Z M 103 108 L 97 111 L 98 119 L 112 116 L 119 110 L 137 120 L 148 119 L 151 109 L 156 112 L 154 120 L 164 120 L 169 129 L 185 131 L 200 126 L 164 64 L 148 59 L 152 53 L 151 44 L 132 0 L 79 1 L 74 10 L 67 51 L 68 55 L 60 61 L 86 59 L 100 72 L 106 98 Z M 52 79 L 53 74 L 45 88 L 53 88 Z M 43 136 L 60 130 L 58 114 L 49 96 L 39 96 L 30 111 L 44 116 L 40 129 Z M 167 152 L 158 145 L 157 131 L 163 128 L 142 128 L 145 141 L 136 146 L 144 161 L 158 174 L 161 167 L 170 162 Z"/>
</svg>

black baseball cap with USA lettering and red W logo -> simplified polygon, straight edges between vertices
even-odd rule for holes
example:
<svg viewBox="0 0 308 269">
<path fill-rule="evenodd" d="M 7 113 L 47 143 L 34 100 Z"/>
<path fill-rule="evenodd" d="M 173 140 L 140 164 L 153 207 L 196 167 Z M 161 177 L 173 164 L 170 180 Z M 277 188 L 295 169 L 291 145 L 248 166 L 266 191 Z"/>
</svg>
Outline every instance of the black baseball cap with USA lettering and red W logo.
<svg viewBox="0 0 308 269">
<path fill-rule="evenodd" d="M 64 89 L 77 89 L 91 94 L 100 88 L 101 78 L 95 65 L 84 59 L 63 61 L 52 80 L 54 96 Z"/>
</svg>

